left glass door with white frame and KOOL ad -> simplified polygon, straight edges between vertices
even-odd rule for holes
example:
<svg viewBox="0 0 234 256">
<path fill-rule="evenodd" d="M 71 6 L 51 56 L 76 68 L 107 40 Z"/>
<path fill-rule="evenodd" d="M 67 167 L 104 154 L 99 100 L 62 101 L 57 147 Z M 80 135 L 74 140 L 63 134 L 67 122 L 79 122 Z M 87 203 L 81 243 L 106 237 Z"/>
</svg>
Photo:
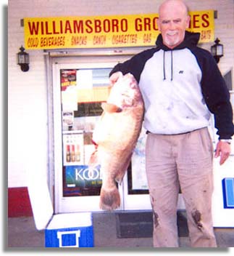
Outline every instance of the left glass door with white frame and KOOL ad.
<svg viewBox="0 0 234 256">
<path fill-rule="evenodd" d="M 114 64 L 53 65 L 57 213 L 100 210 L 100 167 L 89 169 L 88 161 L 95 150 L 92 133 L 102 113 L 101 103 L 109 95 L 109 72 Z"/>
</svg>

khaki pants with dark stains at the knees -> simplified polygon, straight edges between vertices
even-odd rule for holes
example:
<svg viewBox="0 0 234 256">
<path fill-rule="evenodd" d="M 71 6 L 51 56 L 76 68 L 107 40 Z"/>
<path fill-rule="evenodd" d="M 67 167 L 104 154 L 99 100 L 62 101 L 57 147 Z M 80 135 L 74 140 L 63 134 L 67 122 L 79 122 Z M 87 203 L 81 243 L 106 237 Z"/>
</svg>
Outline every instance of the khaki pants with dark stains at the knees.
<svg viewBox="0 0 234 256">
<path fill-rule="evenodd" d="M 212 225 L 213 147 L 207 128 L 146 140 L 154 247 L 178 247 L 177 199 L 183 194 L 192 247 L 217 247 Z"/>
</svg>

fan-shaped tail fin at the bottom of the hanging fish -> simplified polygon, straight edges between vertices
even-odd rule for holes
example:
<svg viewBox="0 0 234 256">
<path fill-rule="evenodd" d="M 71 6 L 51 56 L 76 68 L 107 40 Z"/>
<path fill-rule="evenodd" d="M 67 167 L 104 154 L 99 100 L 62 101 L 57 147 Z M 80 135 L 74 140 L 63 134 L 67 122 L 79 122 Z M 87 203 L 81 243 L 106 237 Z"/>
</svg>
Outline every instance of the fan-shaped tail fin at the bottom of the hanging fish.
<svg viewBox="0 0 234 256">
<path fill-rule="evenodd" d="M 120 207 L 120 193 L 116 186 L 109 190 L 101 188 L 99 207 L 107 211 Z"/>
</svg>

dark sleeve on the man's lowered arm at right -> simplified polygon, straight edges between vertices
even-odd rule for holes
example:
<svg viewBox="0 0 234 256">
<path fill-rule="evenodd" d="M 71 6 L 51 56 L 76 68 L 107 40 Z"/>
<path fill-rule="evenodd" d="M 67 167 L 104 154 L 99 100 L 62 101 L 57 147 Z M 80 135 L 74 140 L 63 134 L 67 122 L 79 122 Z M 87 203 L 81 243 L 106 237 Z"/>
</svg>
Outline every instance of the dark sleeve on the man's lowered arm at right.
<svg viewBox="0 0 234 256">
<path fill-rule="evenodd" d="M 230 139 L 234 134 L 233 108 L 230 93 L 214 57 L 203 50 L 197 54 L 202 70 L 201 89 L 206 105 L 214 114 L 214 126 L 220 139 Z"/>
</svg>

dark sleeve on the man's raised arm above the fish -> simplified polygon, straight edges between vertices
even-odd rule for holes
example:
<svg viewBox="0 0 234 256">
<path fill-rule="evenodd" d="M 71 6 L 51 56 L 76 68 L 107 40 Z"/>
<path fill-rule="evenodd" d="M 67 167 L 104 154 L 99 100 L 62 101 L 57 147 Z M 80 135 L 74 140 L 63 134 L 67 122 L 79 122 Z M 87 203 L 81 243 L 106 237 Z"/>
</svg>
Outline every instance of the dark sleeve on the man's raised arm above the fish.
<svg viewBox="0 0 234 256">
<path fill-rule="evenodd" d="M 136 81 L 140 81 L 141 72 L 143 71 L 144 65 L 147 60 L 149 60 L 156 48 L 147 49 L 146 51 L 140 52 L 137 55 L 130 58 L 130 60 L 125 61 L 124 63 L 118 63 L 114 66 L 112 71 L 109 73 L 109 76 L 112 76 L 112 73 L 120 71 L 125 75 L 126 73 L 132 73 Z"/>
</svg>

